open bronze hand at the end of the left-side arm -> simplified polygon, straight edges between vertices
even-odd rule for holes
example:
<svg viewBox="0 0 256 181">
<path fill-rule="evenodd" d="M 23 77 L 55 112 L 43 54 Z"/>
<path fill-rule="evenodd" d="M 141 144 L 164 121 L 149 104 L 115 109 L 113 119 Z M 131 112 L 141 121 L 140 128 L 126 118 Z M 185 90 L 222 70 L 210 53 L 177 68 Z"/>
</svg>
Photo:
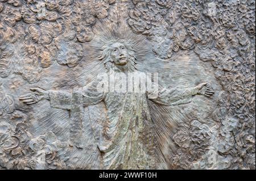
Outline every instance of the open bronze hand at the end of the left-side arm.
<svg viewBox="0 0 256 181">
<path fill-rule="evenodd" d="M 42 99 L 48 98 L 48 91 L 41 88 L 31 88 L 32 92 L 19 97 L 19 100 L 25 104 L 35 104 Z"/>
</svg>

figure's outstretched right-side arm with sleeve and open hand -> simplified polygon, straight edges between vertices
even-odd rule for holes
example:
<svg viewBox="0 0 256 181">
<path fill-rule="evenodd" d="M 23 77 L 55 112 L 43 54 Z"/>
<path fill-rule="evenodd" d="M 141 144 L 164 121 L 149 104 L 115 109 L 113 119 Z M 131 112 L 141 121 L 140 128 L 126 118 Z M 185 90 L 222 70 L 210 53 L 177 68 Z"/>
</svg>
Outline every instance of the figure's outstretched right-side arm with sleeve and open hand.
<svg viewBox="0 0 256 181">
<path fill-rule="evenodd" d="M 191 98 L 194 95 L 212 96 L 214 91 L 207 86 L 207 83 L 200 83 L 196 87 L 188 89 L 158 89 L 157 96 L 152 96 L 155 92 L 148 94 L 148 99 L 153 100 L 156 103 L 164 105 L 177 105 L 191 102 Z"/>
</svg>

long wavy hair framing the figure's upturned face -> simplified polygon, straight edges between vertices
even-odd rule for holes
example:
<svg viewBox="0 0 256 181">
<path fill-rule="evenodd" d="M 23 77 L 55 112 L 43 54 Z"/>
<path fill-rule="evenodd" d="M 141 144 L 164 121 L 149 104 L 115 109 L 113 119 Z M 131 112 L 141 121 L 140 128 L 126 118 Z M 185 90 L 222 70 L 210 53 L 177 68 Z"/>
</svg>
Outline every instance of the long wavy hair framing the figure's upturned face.
<svg viewBox="0 0 256 181">
<path fill-rule="evenodd" d="M 137 58 L 136 58 L 135 52 L 133 50 L 133 44 L 129 40 L 123 40 L 123 39 L 108 41 L 108 42 L 106 42 L 106 45 L 104 45 L 101 48 L 102 54 L 98 59 L 103 61 L 105 68 L 108 71 L 110 71 L 110 69 L 119 70 L 117 68 L 117 66 L 114 64 L 114 61 L 112 60 L 112 58 L 110 56 L 111 51 L 112 51 L 111 45 L 113 45 L 114 43 L 121 43 L 126 47 L 127 55 L 129 56 L 128 62 L 126 64 L 128 71 L 132 72 L 132 71 L 137 70 L 136 69 Z"/>
</svg>

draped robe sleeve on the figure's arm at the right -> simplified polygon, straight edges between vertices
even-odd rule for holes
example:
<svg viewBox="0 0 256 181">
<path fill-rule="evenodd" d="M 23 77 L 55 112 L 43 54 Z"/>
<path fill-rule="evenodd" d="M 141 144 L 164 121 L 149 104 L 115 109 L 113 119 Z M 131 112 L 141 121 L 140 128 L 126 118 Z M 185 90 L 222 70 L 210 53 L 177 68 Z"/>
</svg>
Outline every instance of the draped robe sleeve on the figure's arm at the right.
<svg viewBox="0 0 256 181">
<path fill-rule="evenodd" d="M 178 104 L 187 104 L 192 100 L 192 96 L 197 94 L 196 88 L 188 89 L 166 89 L 155 83 L 151 83 L 150 89 L 147 89 L 148 99 L 158 104 L 175 106 Z"/>
</svg>

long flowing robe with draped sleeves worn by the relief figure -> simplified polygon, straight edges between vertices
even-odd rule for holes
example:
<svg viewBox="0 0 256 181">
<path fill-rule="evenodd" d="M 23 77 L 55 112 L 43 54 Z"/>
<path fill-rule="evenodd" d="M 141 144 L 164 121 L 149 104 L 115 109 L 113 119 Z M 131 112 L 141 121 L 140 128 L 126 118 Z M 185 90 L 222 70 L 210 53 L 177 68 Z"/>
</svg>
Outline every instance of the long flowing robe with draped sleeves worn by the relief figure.
<svg viewBox="0 0 256 181">
<path fill-rule="evenodd" d="M 145 92 L 106 92 L 98 90 L 99 83 L 102 79 L 70 92 L 49 91 L 52 107 L 71 110 L 70 141 L 82 147 L 84 108 L 104 101 L 106 120 L 98 141 L 102 169 L 154 169 L 156 143 L 148 99 L 166 105 L 189 103 L 196 90 L 164 89 L 153 83 Z"/>
</svg>

